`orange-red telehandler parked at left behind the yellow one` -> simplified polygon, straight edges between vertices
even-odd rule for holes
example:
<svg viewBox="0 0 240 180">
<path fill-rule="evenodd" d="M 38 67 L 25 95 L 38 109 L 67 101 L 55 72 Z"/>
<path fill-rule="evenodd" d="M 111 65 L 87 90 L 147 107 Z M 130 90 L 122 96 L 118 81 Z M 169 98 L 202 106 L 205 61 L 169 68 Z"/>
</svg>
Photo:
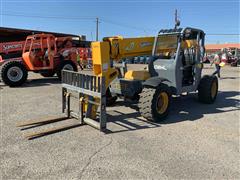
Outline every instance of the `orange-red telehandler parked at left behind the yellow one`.
<svg viewBox="0 0 240 180">
<path fill-rule="evenodd" d="M 58 37 L 52 34 L 35 34 L 26 38 L 22 60 L 5 62 L 2 80 L 11 87 L 20 86 L 26 80 L 28 71 L 51 77 L 55 73 L 61 79 L 62 69 L 77 71 L 82 68 L 80 60 L 91 56 L 90 48 L 73 46 L 72 37 Z"/>
</svg>

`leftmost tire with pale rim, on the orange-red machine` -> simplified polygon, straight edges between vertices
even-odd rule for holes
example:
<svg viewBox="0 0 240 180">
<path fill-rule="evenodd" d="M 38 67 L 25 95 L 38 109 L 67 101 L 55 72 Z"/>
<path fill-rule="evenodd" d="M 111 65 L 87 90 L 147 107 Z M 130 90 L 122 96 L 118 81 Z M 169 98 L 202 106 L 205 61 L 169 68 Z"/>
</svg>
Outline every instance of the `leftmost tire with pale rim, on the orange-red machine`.
<svg viewBox="0 0 240 180">
<path fill-rule="evenodd" d="M 17 87 L 26 82 L 28 71 L 23 63 L 19 61 L 9 61 L 3 65 L 1 76 L 6 85 Z"/>
</svg>

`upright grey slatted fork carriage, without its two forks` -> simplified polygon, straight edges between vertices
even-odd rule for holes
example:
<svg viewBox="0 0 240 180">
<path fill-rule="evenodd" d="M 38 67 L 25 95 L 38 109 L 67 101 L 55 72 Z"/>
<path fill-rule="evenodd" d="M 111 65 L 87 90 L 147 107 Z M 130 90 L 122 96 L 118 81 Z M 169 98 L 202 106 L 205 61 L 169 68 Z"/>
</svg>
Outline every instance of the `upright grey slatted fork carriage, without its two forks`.
<svg viewBox="0 0 240 180">
<path fill-rule="evenodd" d="M 78 112 L 71 110 L 71 98 L 78 100 Z M 99 113 L 93 117 L 91 112 L 98 109 Z M 107 128 L 105 78 L 63 70 L 62 112 L 68 118 L 78 119 L 80 124 L 88 124 L 104 131 Z"/>
</svg>

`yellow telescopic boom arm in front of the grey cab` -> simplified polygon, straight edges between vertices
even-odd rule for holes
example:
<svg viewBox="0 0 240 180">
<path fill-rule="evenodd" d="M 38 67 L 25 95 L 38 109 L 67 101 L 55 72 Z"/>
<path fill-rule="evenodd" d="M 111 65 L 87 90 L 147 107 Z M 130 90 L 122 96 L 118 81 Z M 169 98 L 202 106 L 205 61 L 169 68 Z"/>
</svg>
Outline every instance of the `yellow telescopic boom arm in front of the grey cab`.
<svg viewBox="0 0 240 180">
<path fill-rule="evenodd" d="M 93 73 L 106 78 L 106 87 L 113 81 L 118 72 L 112 68 L 112 61 L 126 57 L 151 55 L 154 37 L 123 38 L 121 36 L 106 37 L 103 42 L 93 42 Z"/>
</svg>

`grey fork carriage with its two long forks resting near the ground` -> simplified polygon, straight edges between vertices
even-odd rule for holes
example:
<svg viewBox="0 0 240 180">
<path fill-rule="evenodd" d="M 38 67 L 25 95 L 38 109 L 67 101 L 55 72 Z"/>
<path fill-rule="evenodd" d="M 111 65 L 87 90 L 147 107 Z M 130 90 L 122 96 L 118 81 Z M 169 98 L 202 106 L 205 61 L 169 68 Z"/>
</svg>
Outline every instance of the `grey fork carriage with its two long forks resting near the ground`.
<svg viewBox="0 0 240 180">
<path fill-rule="evenodd" d="M 77 112 L 74 112 L 71 109 L 71 101 L 73 99 L 77 99 L 78 101 Z M 93 106 L 97 106 L 99 109 L 99 113 L 96 113 L 96 118 L 94 119 L 91 118 L 93 115 Z M 17 124 L 17 127 L 21 127 L 22 130 L 26 130 L 74 118 L 76 119 L 76 123 L 74 124 L 51 128 L 45 131 L 29 133 L 26 134 L 25 137 L 28 139 L 33 139 L 83 124 L 88 124 L 96 129 L 99 129 L 100 131 L 105 131 L 107 128 L 105 79 L 103 77 L 88 75 L 82 72 L 63 70 L 62 113 L 63 116 L 51 116 L 38 120 L 22 121 Z"/>
</svg>

